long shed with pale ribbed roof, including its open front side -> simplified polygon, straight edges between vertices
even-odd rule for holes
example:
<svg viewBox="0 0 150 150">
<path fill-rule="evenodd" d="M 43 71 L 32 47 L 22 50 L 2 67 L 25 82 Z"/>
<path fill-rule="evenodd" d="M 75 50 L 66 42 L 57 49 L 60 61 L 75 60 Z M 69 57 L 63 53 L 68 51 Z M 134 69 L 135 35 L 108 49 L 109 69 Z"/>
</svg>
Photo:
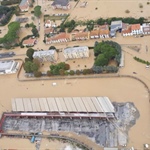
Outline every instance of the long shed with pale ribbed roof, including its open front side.
<svg viewBox="0 0 150 150">
<path fill-rule="evenodd" d="M 108 97 L 13 98 L 12 111 L 53 117 L 113 117 L 115 113 Z"/>
</svg>

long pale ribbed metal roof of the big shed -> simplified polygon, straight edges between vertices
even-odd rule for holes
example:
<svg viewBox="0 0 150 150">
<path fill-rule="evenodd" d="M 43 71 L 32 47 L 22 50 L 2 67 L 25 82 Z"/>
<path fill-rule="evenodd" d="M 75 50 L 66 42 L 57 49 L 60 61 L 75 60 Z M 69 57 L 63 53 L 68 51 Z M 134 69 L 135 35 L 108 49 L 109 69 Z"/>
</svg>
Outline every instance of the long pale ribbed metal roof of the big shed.
<svg viewBox="0 0 150 150">
<path fill-rule="evenodd" d="M 12 99 L 12 111 L 114 113 L 108 97 L 49 97 Z"/>
</svg>

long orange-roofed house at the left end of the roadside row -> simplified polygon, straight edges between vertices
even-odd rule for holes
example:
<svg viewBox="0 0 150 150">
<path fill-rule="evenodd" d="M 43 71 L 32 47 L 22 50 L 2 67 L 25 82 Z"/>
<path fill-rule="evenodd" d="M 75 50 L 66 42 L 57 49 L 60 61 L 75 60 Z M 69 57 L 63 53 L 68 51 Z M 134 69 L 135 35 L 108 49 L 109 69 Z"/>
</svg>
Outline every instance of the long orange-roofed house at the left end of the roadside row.
<svg viewBox="0 0 150 150">
<path fill-rule="evenodd" d="M 46 38 L 46 44 L 69 42 L 69 41 L 70 41 L 70 34 L 65 32 Z"/>
</svg>

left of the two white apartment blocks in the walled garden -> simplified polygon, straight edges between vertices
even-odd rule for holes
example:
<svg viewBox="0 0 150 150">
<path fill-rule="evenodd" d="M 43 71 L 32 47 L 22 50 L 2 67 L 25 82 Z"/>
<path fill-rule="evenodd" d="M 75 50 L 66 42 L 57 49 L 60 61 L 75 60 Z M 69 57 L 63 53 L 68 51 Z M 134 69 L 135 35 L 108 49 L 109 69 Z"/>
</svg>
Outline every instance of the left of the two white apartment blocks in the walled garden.
<svg viewBox="0 0 150 150">
<path fill-rule="evenodd" d="M 36 51 L 33 54 L 33 58 L 38 59 L 40 62 L 43 61 L 56 62 L 58 54 L 56 50 Z"/>
</svg>

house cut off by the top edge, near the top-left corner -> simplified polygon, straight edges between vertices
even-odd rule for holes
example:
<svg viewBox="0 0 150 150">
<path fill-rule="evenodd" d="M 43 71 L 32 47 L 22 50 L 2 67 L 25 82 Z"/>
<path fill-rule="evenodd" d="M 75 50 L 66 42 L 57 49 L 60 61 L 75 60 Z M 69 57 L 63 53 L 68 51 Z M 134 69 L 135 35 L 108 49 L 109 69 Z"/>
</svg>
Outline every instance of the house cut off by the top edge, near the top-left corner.
<svg viewBox="0 0 150 150">
<path fill-rule="evenodd" d="M 32 0 L 22 0 L 21 3 L 19 4 L 19 8 L 22 12 L 28 11 L 29 6 L 32 4 Z"/>
</svg>

